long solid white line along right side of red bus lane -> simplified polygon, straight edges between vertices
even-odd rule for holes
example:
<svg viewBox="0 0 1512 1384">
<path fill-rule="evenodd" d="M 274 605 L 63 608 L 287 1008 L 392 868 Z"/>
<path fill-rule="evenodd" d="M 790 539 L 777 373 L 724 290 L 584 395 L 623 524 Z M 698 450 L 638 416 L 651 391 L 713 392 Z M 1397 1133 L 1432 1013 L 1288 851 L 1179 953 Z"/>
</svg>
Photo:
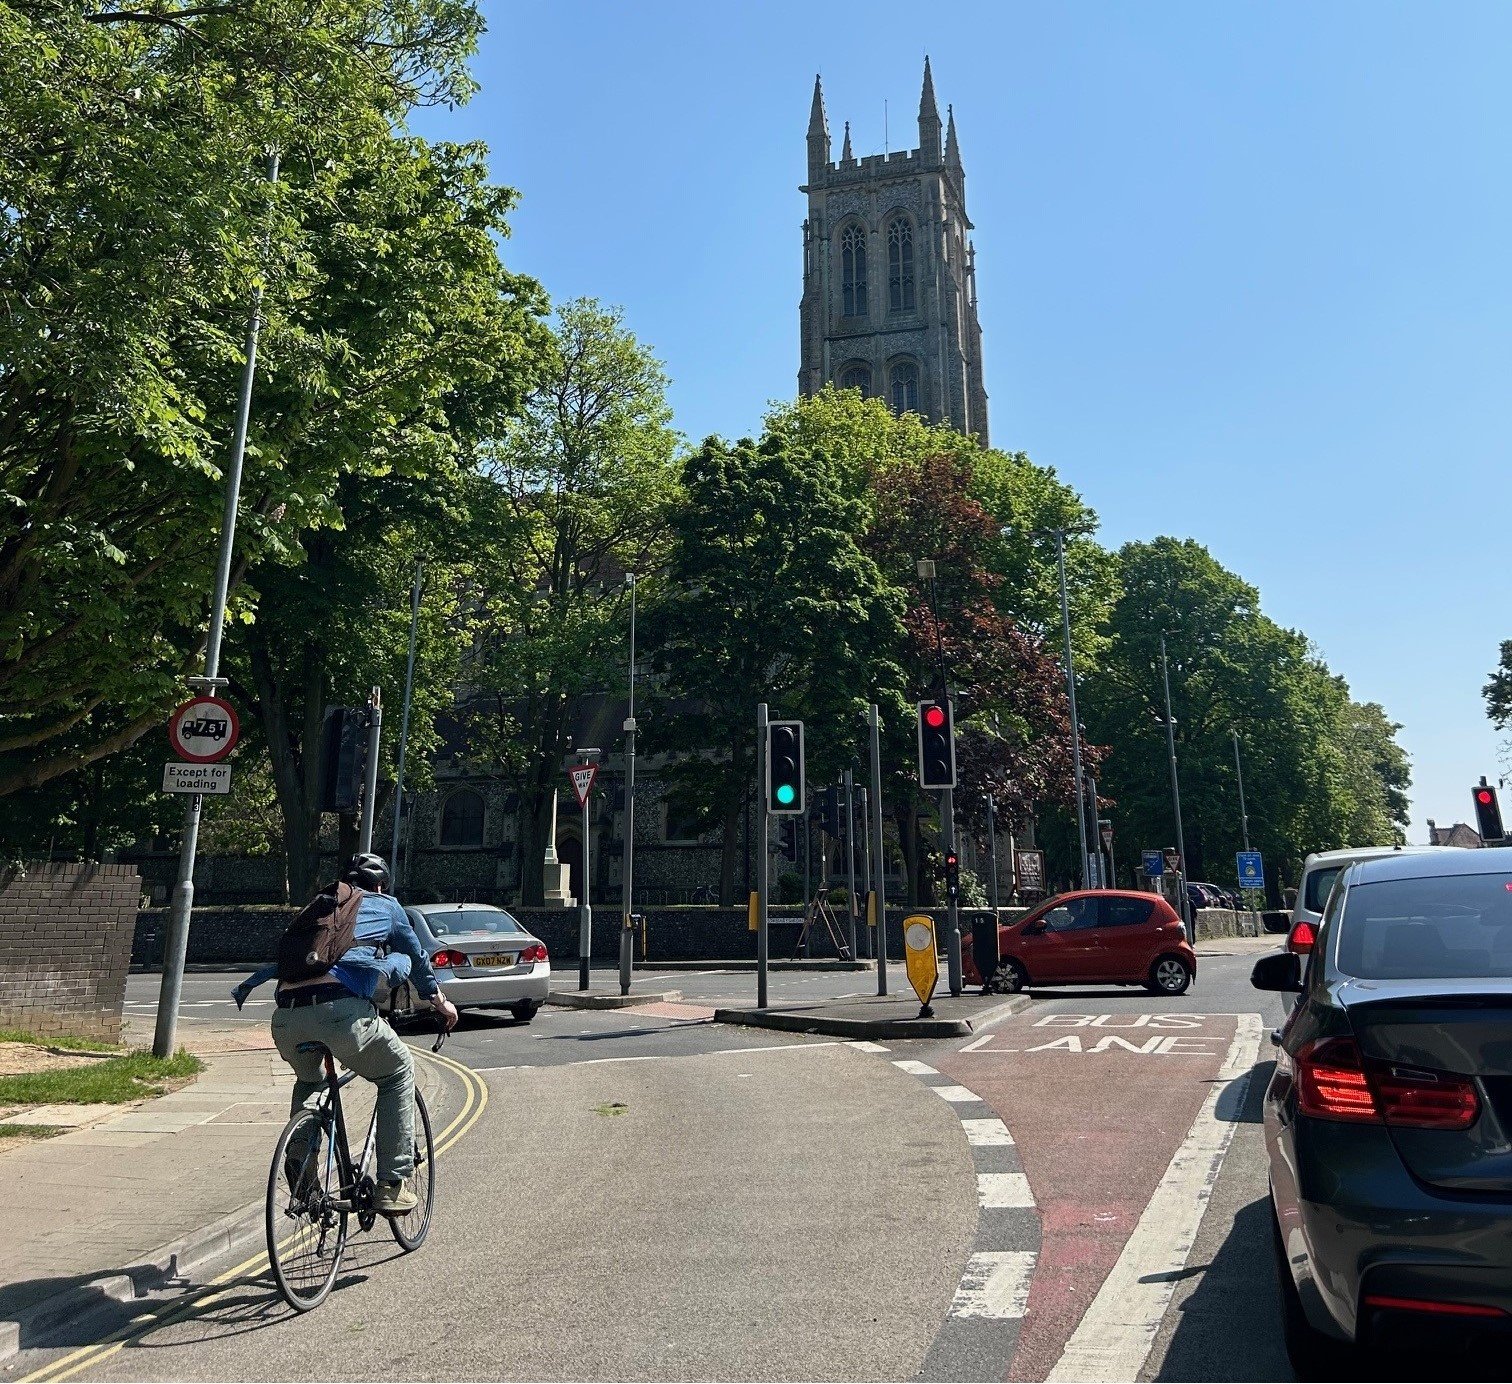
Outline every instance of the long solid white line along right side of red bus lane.
<svg viewBox="0 0 1512 1384">
<path fill-rule="evenodd" d="M 1237 1018 L 1219 1080 L 1046 1379 L 1139 1378 L 1187 1266 L 1259 1057 L 1259 1015 Z M 1225 1097 L 1231 1103 L 1226 1118 L 1217 1113 Z"/>
</svg>

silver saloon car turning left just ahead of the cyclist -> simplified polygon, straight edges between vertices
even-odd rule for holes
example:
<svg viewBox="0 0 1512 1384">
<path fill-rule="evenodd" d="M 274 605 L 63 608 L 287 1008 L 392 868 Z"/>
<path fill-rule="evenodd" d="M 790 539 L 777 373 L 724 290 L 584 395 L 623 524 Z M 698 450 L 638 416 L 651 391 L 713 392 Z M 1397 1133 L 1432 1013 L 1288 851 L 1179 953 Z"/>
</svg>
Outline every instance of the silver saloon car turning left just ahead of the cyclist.
<svg viewBox="0 0 1512 1384">
<path fill-rule="evenodd" d="M 552 988 L 546 944 L 485 903 L 422 903 L 405 909 L 435 977 L 458 1009 L 508 1009 L 528 1024 Z M 414 988 L 389 997 L 390 1018 L 425 1009 Z"/>
</svg>

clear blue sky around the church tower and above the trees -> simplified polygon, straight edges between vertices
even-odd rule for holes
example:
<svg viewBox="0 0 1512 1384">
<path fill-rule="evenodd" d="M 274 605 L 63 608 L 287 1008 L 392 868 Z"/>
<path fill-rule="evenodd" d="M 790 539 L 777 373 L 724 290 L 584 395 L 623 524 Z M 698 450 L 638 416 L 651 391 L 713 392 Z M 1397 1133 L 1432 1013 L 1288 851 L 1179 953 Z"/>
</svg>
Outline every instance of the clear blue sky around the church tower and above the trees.
<svg viewBox="0 0 1512 1384">
<path fill-rule="evenodd" d="M 505 6 L 429 112 L 522 194 L 510 263 L 621 304 L 692 439 L 798 366 L 804 127 L 916 139 L 931 56 L 977 224 L 995 446 L 1102 540 L 1191 535 L 1403 723 L 1411 839 L 1495 773 L 1512 638 L 1512 6 Z"/>
</svg>

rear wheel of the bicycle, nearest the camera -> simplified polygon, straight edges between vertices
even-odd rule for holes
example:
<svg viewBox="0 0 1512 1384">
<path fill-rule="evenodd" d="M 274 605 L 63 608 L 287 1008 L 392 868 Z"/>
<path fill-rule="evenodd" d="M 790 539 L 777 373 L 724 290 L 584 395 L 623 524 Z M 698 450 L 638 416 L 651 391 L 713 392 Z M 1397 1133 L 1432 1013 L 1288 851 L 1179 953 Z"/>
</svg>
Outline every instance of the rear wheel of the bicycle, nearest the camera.
<svg viewBox="0 0 1512 1384">
<path fill-rule="evenodd" d="M 268 1172 L 268 1261 L 295 1311 L 319 1307 L 346 1248 L 340 1165 L 328 1115 L 299 1110 L 278 1136 Z"/>
</svg>

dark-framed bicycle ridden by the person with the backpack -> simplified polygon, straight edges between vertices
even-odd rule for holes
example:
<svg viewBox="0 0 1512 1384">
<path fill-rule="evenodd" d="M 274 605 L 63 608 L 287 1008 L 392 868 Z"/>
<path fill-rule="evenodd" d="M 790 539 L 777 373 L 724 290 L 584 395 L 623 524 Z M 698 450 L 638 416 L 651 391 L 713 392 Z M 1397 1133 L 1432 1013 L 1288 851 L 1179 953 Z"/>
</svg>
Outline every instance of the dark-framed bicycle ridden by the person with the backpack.
<svg viewBox="0 0 1512 1384">
<path fill-rule="evenodd" d="M 445 1041 L 443 1029 L 431 1051 L 440 1051 Z M 280 1295 L 295 1311 L 313 1311 L 336 1284 L 342 1252 L 346 1249 L 349 1218 L 355 1215 L 361 1230 L 372 1230 L 378 1219 L 373 1207 L 376 1181 L 372 1174 L 378 1110 L 375 1107 L 367 1121 L 361 1156 L 354 1160 L 346 1136 L 342 1088 L 357 1074 L 337 1075 L 336 1059 L 325 1044 L 299 1044 L 299 1050 L 324 1054 L 327 1089 L 313 1109 L 307 1106 L 296 1110 L 278 1136 L 268 1172 L 265 1227 L 268 1261 Z M 413 1254 L 425 1243 L 435 1204 L 435 1144 L 431 1112 L 425 1107 L 419 1086 L 414 1088 L 413 1186 L 419 1198 L 414 1210 L 384 1218 L 405 1254 Z"/>
</svg>

